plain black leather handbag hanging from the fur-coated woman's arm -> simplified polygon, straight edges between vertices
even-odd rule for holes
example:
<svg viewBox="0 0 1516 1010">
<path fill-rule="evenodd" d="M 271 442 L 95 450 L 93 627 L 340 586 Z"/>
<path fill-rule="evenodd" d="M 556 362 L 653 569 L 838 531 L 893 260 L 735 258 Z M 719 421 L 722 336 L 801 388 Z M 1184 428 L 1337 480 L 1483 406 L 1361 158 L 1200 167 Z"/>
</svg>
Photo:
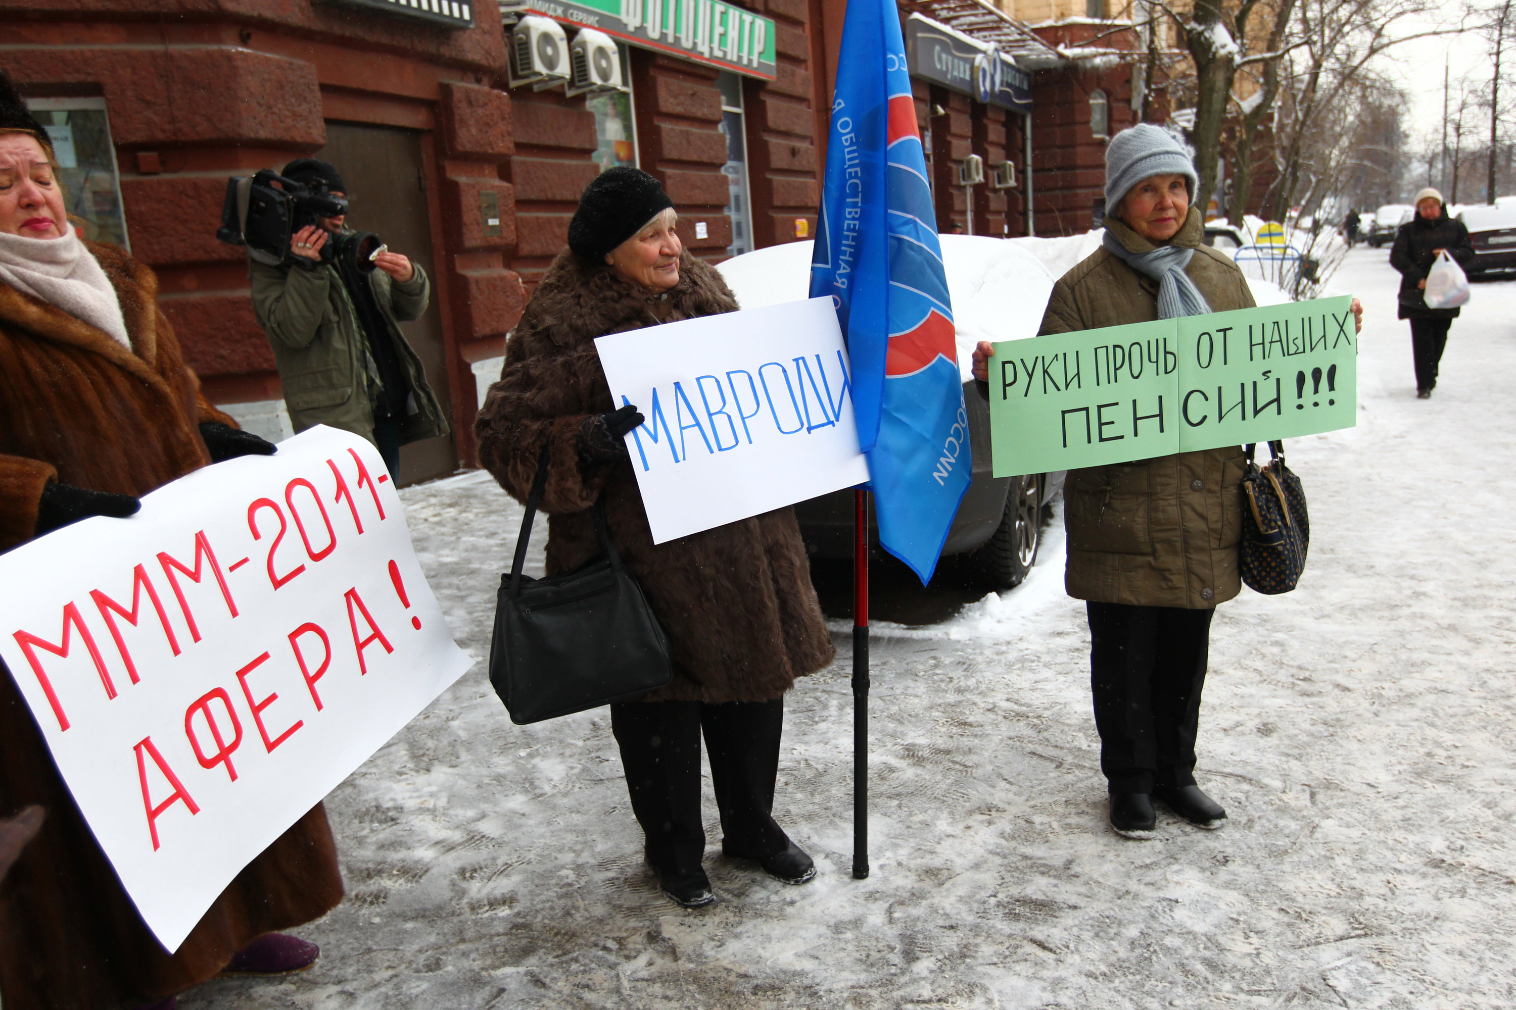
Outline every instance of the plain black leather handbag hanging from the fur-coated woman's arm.
<svg viewBox="0 0 1516 1010">
<path fill-rule="evenodd" d="M 490 683 L 517 725 L 626 701 L 673 677 L 669 637 L 622 565 L 599 501 L 594 527 L 605 554 L 547 578 L 522 574 L 546 483 L 543 448 L 490 641 Z"/>
</svg>

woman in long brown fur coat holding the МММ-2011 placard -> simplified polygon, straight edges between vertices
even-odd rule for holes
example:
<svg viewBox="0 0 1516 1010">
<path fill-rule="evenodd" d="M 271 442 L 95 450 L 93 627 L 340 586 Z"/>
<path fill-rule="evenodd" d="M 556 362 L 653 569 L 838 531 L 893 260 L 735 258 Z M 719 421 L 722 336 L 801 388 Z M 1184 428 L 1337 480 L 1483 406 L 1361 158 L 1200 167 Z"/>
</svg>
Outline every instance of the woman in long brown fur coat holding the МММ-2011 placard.
<svg viewBox="0 0 1516 1010">
<path fill-rule="evenodd" d="M 130 515 L 138 495 L 211 462 L 274 451 L 200 395 L 153 273 L 76 236 L 56 168 L 45 130 L 0 74 L 0 551 L 88 516 Z M 41 828 L 0 883 L 6 1010 L 167 1010 L 217 974 L 308 968 L 315 945 L 271 930 L 343 896 L 317 806 L 168 954 L 0 672 L 0 816 L 23 807 L 24 827 Z"/>
</svg>

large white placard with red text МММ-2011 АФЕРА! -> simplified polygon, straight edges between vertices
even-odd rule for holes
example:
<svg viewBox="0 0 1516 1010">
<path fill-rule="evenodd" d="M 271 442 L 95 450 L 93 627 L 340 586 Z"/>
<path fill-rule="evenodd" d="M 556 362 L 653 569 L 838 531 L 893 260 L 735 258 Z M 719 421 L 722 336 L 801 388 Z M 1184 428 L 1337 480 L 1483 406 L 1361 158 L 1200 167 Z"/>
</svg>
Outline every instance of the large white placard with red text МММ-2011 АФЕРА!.
<svg viewBox="0 0 1516 1010">
<path fill-rule="evenodd" d="M 462 675 L 379 453 L 317 427 L 0 554 L 0 657 L 174 951 Z"/>
</svg>

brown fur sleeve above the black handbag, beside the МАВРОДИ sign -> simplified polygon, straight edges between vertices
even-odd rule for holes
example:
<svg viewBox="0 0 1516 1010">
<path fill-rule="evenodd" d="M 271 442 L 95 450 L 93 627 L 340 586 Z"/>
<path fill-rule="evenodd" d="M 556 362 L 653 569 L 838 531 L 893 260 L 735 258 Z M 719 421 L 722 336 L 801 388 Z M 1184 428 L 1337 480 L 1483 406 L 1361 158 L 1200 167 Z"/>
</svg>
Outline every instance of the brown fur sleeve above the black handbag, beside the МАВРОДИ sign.
<svg viewBox="0 0 1516 1010">
<path fill-rule="evenodd" d="M 479 462 L 512 498 L 526 501 L 547 445 L 541 510 L 584 512 L 600 497 L 609 471 L 584 472 L 579 466 L 579 433 L 591 413 L 576 394 L 585 371 L 599 371 L 594 344 L 562 348 L 522 329 L 508 341 L 500 382 L 490 386 L 475 419 Z"/>
</svg>

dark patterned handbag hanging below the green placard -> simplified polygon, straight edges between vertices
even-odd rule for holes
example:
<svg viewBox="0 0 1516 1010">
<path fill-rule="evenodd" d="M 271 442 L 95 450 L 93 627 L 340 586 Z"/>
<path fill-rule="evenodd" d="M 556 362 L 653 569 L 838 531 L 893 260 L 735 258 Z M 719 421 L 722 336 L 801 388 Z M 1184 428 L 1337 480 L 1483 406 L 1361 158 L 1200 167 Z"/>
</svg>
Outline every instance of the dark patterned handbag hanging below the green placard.
<svg viewBox="0 0 1516 1010">
<path fill-rule="evenodd" d="M 1295 589 L 1305 571 L 1311 519 L 1301 479 L 1284 465 L 1284 442 L 1269 442 L 1269 465 L 1254 462 L 1242 479 L 1242 580 L 1254 592 L 1275 595 Z"/>
</svg>

